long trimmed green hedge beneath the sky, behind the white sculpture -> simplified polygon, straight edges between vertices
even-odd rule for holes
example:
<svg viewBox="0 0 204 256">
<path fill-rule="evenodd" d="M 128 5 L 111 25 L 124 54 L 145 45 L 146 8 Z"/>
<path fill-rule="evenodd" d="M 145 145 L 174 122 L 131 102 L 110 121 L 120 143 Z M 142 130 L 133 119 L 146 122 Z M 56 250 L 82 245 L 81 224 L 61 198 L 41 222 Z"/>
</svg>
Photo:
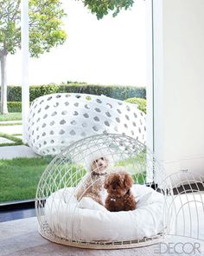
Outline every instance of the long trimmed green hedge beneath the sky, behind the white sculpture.
<svg viewBox="0 0 204 256">
<path fill-rule="evenodd" d="M 49 95 L 54 93 L 81 93 L 92 95 L 106 95 L 118 100 L 124 101 L 131 97 L 146 98 L 146 89 L 144 87 L 134 86 L 105 86 L 93 85 L 86 83 L 68 83 L 62 85 L 48 84 L 41 86 L 30 86 L 30 102 L 42 95 Z M 8 87 L 8 102 L 21 102 L 22 88 L 20 86 Z"/>
</svg>

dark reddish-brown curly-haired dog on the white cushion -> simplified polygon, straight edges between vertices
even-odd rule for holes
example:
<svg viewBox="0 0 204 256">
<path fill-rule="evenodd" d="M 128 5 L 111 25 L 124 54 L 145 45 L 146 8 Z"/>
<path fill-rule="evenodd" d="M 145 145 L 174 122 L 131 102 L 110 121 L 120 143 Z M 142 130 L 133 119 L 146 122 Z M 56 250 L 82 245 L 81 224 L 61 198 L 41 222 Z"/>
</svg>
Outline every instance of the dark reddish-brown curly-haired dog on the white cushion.
<svg viewBox="0 0 204 256">
<path fill-rule="evenodd" d="M 109 174 L 105 178 L 107 197 L 105 208 L 110 212 L 131 211 L 136 209 L 136 201 L 131 194 L 133 181 L 127 172 Z"/>
</svg>

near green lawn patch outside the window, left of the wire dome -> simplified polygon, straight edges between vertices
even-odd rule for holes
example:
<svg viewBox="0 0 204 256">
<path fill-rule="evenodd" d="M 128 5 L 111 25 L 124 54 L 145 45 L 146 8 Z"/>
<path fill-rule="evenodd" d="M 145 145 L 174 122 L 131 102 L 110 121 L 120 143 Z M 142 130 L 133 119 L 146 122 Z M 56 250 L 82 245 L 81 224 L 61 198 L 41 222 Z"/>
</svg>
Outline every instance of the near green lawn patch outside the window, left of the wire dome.
<svg viewBox="0 0 204 256">
<path fill-rule="evenodd" d="M 16 158 L 0 161 L 0 203 L 34 199 L 41 174 L 50 158 Z"/>
</svg>

